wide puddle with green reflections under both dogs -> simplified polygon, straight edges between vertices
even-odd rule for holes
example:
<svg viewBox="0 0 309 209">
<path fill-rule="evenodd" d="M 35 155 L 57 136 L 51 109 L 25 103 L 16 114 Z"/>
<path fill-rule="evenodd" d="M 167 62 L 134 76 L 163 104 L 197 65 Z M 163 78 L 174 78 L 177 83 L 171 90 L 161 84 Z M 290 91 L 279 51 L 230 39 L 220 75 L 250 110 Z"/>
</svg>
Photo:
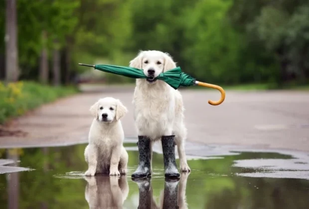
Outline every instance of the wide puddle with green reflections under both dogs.
<svg viewBox="0 0 309 209">
<path fill-rule="evenodd" d="M 1 209 L 116 205 L 124 209 L 164 205 L 169 209 L 177 204 L 189 209 L 307 209 L 309 206 L 308 153 L 188 142 L 186 152 L 191 173 L 181 175 L 179 181 L 165 181 L 163 158 L 158 154 L 159 146 L 155 146 L 152 179 L 134 182 L 131 174 L 138 162 L 135 140 L 125 144 L 129 175 L 119 178 L 84 177 L 85 146 L 19 148 L 10 152 L 18 163 L 11 166 L 12 161 L 0 160 L 0 169 L 10 165 L 24 170 L 0 175 Z M 5 153 L 5 149 L 0 149 L 0 158 L 5 158 Z"/>
</svg>

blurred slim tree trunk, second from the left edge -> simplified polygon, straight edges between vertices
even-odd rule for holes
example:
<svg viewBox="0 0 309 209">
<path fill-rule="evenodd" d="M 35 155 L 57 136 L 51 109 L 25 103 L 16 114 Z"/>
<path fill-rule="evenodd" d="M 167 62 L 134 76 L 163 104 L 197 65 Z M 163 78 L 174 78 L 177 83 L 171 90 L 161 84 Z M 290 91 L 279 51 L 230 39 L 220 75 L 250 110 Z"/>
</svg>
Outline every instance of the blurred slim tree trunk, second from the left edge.
<svg viewBox="0 0 309 209">
<path fill-rule="evenodd" d="M 40 61 L 40 76 L 39 80 L 43 84 L 48 83 L 48 54 L 47 54 L 47 33 L 46 31 L 42 31 L 42 51 L 41 51 L 41 61 Z"/>
</svg>

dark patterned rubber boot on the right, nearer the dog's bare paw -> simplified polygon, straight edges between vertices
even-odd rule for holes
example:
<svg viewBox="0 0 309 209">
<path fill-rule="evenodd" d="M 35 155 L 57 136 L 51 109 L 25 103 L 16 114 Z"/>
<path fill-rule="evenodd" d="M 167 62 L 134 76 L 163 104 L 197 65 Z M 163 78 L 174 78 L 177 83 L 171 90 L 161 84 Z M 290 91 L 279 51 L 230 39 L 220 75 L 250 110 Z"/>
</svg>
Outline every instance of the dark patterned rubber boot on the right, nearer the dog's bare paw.
<svg viewBox="0 0 309 209">
<path fill-rule="evenodd" d="M 180 177 L 175 159 L 175 135 L 162 136 L 165 177 Z"/>
</svg>

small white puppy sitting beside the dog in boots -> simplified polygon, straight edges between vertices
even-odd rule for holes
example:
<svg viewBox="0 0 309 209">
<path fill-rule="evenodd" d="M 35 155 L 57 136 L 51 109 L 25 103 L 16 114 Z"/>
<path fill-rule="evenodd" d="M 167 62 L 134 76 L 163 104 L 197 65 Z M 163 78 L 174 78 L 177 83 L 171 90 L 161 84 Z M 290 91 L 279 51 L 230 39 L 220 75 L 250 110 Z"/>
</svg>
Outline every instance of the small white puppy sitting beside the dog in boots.
<svg viewBox="0 0 309 209">
<path fill-rule="evenodd" d="M 113 176 L 126 174 L 128 153 L 123 146 L 124 131 L 120 118 L 127 113 L 127 108 L 119 100 L 106 97 L 93 104 L 90 111 L 95 118 L 85 149 L 88 163 L 85 175 L 108 172 Z"/>
</svg>

